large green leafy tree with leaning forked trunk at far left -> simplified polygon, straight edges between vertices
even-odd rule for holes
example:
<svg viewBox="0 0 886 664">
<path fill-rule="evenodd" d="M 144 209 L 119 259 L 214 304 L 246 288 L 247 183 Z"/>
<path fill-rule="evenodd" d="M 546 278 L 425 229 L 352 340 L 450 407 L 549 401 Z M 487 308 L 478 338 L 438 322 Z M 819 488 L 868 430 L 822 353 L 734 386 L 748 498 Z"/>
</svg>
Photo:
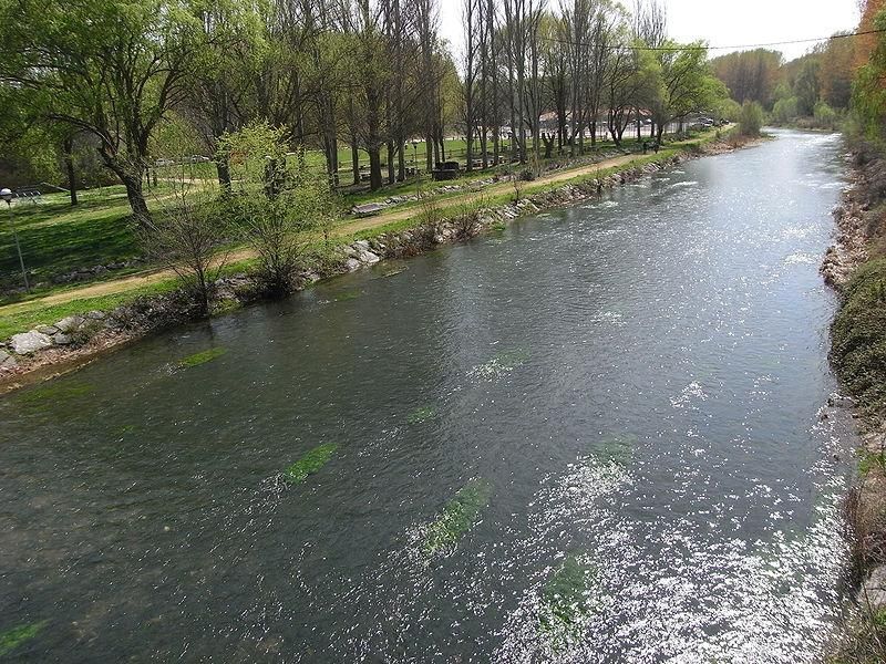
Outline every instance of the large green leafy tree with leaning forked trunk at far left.
<svg viewBox="0 0 886 664">
<path fill-rule="evenodd" d="M 146 222 L 148 141 L 186 97 L 206 43 L 197 9 L 174 0 L 0 0 L 0 80 L 34 91 L 34 116 L 95 136 Z"/>
</svg>

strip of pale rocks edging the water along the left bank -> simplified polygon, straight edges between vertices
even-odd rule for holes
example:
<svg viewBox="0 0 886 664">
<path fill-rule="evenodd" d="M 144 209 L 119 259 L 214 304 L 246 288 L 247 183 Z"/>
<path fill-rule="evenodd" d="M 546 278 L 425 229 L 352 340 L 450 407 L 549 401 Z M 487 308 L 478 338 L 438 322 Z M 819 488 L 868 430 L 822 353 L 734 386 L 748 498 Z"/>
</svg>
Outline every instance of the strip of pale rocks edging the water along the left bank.
<svg viewBox="0 0 886 664">
<path fill-rule="evenodd" d="M 664 168 L 696 158 L 731 153 L 756 145 L 760 141 L 724 136 L 681 147 L 672 155 L 657 158 L 638 156 L 624 166 L 610 169 L 608 175 L 599 179 L 579 174 L 576 175 L 576 181 L 566 180 L 560 186 L 527 195 L 516 203 L 478 208 L 431 224 L 423 221 L 421 211 L 415 210 L 415 216 L 410 219 L 413 222 L 404 230 L 382 231 L 368 239 L 339 245 L 333 264 L 305 271 L 297 292 L 318 281 L 371 268 L 383 261 L 410 258 L 443 245 L 466 241 L 519 217 L 597 198 L 604 190 L 611 190 Z M 224 278 L 217 286 L 214 315 L 268 301 L 256 297 L 254 281 L 247 274 Z M 38 325 L 6 340 L 6 346 L 0 345 L 0 396 L 71 373 L 130 343 L 198 320 L 182 293 L 174 291 L 141 298 L 110 311 L 66 317 L 54 325 Z"/>
</svg>

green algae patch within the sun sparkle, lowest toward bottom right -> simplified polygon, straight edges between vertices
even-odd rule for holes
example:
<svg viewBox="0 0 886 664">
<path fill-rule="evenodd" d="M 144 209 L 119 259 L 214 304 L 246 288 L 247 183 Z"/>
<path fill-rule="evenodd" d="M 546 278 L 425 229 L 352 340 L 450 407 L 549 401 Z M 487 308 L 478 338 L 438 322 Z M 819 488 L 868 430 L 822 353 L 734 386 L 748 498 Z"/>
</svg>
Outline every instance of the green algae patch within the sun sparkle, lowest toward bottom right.
<svg viewBox="0 0 886 664">
<path fill-rule="evenodd" d="M 542 593 L 538 629 L 555 650 L 583 637 L 587 620 L 599 606 L 599 571 L 584 556 L 569 556 Z"/>
</svg>

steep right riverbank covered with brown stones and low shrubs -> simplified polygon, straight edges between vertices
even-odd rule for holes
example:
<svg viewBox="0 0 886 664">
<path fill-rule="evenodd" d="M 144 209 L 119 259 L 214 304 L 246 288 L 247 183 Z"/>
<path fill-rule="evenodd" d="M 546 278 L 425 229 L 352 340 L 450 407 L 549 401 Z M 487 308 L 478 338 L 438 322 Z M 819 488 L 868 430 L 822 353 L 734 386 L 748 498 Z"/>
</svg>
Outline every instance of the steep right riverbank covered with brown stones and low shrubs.
<svg viewBox="0 0 886 664">
<path fill-rule="evenodd" d="M 886 159 L 856 147 L 852 183 L 834 211 L 835 243 L 821 271 L 841 294 L 831 359 L 855 401 L 862 447 L 846 499 L 855 611 L 836 662 L 886 657 Z"/>
</svg>

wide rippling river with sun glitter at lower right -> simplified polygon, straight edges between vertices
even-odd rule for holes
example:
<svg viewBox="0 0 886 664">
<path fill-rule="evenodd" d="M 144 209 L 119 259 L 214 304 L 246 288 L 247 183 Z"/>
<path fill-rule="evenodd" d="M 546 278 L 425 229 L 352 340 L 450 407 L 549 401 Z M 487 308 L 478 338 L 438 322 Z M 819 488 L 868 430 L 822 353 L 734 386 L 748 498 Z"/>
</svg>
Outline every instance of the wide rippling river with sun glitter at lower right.
<svg viewBox="0 0 886 664">
<path fill-rule="evenodd" d="M 841 149 L 781 132 L 0 401 L 7 655 L 814 661 Z"/>
</svg>

